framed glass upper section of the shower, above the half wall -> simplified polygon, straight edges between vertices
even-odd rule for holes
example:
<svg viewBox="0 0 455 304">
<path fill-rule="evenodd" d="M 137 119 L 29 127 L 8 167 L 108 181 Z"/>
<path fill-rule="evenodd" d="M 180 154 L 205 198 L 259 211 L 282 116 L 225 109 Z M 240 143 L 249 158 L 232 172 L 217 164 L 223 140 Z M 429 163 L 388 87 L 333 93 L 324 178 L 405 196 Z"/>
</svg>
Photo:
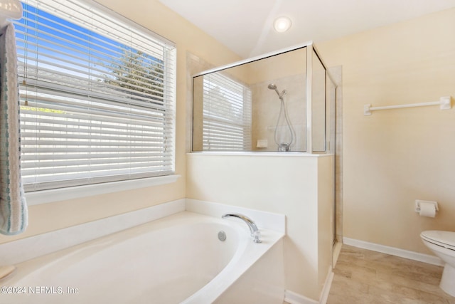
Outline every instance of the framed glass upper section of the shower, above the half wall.
<svg viewBox="0 0 455 304">
<path fill-rule="evenodd" d="M 193 152 L 335 149 L 336 84 L 312 42 L 193 76 Z"/>
</svg>

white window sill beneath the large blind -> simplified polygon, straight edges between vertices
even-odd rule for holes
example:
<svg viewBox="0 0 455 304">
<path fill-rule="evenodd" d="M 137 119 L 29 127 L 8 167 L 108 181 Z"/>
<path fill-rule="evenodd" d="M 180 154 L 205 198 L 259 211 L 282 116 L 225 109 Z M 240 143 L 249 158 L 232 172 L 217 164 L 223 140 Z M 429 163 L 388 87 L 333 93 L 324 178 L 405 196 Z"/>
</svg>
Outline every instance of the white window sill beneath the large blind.
<svg viewBox="0 0 455 304">
<path fill-rule="evenodd" d="M 134 179 L 122 182 L 108 182 L 104 184 L 92 184 L 79 187 L 68 187 L 62 189 L 51 189 L 36 192 L 27 192 L 26 200 L 28 206 L 51 203 L 53 201 L 65 201 L 67 199 L 79 199 L 86 196 L 107 194 L 124 190 L 139 189 L 145 187 L 159 186 L 176 182 L 181 175 L 173 174 L 164 177 L 149 177 L 145 179 Z"/>
</svg>

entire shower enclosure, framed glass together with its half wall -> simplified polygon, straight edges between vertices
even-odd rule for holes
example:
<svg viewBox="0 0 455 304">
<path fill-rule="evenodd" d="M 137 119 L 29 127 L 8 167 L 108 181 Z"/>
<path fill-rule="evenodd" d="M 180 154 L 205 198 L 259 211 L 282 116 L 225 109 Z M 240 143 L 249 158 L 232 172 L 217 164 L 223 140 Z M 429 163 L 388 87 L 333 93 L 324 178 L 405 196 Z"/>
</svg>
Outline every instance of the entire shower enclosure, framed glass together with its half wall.
<svg viewBox="0 0 455 304">
<path fill-rule="evenodd" d="M 284 214 L 285 289 L 313 299 L 339 247 L 337 90 L 311 42 L 193 76 L 188 197 Z"/>
</svg>

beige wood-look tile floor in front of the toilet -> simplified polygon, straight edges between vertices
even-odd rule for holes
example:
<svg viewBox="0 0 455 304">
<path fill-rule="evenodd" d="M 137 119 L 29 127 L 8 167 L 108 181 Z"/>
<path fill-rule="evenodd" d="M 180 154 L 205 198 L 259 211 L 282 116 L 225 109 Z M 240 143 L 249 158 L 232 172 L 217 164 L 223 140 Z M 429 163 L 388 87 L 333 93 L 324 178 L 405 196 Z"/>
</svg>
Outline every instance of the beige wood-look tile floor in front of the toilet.
<svg viewBox="0 0 455 304">
<path fill-rule="evenodd" d="M 327 304 L 455 304 L 439 288 L 440 266 L 343 245 L 333 272 Z"/>
</svg>

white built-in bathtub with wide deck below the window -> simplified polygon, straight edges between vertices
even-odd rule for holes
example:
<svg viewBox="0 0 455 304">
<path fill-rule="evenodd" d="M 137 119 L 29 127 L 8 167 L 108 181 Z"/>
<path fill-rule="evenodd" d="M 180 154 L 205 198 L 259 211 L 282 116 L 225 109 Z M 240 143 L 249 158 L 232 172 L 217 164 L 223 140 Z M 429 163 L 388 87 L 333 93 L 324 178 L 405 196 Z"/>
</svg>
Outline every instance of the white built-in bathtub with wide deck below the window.
<svg viewBox="0 0 455 304">
<path fill-rule="evenodd" d="M 282 304 L 284 235 L 261 233 L 182 211 L 16 264 L 0 303 Z"/>
</svg>

